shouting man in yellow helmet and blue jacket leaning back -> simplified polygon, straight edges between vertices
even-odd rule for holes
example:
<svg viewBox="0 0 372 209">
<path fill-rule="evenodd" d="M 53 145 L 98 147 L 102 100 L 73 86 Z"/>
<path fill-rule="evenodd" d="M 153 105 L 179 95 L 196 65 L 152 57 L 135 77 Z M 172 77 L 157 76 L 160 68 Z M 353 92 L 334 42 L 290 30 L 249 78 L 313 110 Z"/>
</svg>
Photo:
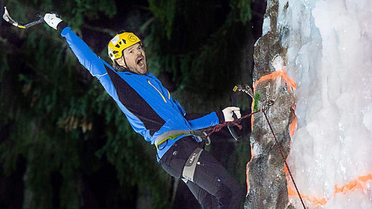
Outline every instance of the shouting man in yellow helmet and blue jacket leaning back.
<svg viewBox="0 0 372 209">
<path fill-rule="evenodd" d="M 108 54 L 114 70 L 55 14 L 47 13 L 44 20 L 61 32 L 79 62 L 100 81 L 134 131 L 155 145 L 161 167 L 185 181 L 202 208 L 212 208 L 214 198 L 219 208 L 240 207 L 243 190 L 228 171 L 203 150 L 200 132 L 193 131 L 232 121 L 233 112 L 239 118 L 238 107 L 226 107 L 203 116 L 186 113 L 148 72 L 141 40 L 134 33 L 119 33 L 109 42 Z"/>
</svg>

